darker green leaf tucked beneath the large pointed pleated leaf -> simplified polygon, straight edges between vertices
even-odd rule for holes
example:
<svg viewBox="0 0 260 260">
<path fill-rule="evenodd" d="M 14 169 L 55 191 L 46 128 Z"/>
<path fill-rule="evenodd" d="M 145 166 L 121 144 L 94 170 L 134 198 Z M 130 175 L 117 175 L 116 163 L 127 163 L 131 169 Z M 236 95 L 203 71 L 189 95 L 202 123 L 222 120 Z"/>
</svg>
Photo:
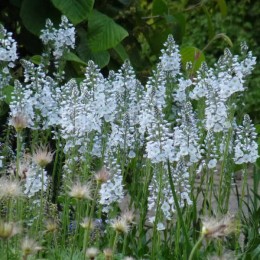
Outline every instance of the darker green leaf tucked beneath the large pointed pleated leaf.
<svg viewBox="0 0 260 260">
<path fill-rule="evenodd" d="M 83 29 L 78 30 L 79 44 L 77 47 L 77 53 L 79 58 L 84 62 L 93 60 L 100 68 L 105 67 L 110 60 L 110 54 L 108 51 L 92 51 L 88 44 L 87 32 Z"/>
</svg>

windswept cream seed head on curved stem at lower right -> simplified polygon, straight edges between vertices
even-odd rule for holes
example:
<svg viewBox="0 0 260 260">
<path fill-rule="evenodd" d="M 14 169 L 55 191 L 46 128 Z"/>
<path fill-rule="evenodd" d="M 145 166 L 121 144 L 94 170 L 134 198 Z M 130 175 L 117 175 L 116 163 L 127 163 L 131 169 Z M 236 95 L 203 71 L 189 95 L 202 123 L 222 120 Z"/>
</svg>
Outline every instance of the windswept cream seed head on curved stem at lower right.
<svg viewBox="0 0 260 260">
<path fill-rule="evenodd" d="M 226 215 L 221 219 L 205 218 L 202 220 L 202 235 L 206 238 L 224 238 L 237 230 L 234 216 Z"/>
</svg>

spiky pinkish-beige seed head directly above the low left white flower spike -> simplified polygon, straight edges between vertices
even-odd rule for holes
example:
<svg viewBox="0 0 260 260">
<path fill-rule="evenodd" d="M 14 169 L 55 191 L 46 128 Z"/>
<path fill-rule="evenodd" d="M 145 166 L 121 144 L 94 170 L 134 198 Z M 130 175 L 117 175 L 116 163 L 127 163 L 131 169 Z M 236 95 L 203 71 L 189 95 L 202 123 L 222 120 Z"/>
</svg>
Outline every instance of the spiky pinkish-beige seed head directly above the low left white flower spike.
<svg viewBox="0 0 260 260">
<path fill-rule="evenodd" d="M 32 155 L 32 161 L 39 165 L 41 168 L 45 168 L 52 162 L 54 152 L 50 151 L 48 146 L 37 146 Z"/>
</svg>

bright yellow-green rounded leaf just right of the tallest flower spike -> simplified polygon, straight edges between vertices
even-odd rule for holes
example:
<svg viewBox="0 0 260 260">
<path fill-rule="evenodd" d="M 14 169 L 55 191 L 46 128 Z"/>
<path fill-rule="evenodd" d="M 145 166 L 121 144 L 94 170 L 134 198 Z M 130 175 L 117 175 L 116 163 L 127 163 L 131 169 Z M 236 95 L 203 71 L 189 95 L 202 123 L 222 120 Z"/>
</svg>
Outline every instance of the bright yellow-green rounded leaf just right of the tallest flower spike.
<svg viewBox="0 0 260 260">
<path fill-rule="evenodd" d="M 203 52 L 195 47 L 181 48 L 180 53 L 184 69 L 186 67 L 186 63 L 191 62 L 193 65 L 193 71 L 196 71 L 200 68 L 201 63 L 205 61 L 205 56 Z"/>
</svg>

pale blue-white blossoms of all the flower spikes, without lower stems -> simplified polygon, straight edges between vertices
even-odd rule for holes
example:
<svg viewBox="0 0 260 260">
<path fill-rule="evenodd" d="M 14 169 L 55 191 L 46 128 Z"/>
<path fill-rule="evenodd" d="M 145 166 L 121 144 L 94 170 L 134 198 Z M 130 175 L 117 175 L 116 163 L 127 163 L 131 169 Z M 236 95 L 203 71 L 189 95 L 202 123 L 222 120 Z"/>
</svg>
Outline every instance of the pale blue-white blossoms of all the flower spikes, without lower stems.
<svg viewBox="0 0 260 260">
<path fill-rule="evenodd" d="M 0 42 L 0 60 L 2 57 L 1 61 L 14 62 L 15 42 L 3 28 L 0 33 L 5 39 Z M 170 35 L 143 86 L 129 61 L 107 78 L 93 61 L 88 62 L 80 83 L 75 79 L 65 82 L 59 73 L 50 76 L 45 59 L 49 57 L 50 61 L 54 56 L 57 69 L 63 55 L 75 47 L 75 28 L 66 17 L 62 17 L 58 29 L 48 20 L 41 39 L 49 53 L 43 55 L 39 65 L 21 61 L 24 82 L 14 83 L 10 116 L 15 119 L 23 115 L 24 127 L 31 129 L 58 129 L 56 134 L 64 142 L 66 157 L 64 179 L 76 174 L 76 168 L 85 169 L 87 158 L 103 161 L 108 174 L 96 181 L 98 202 L 104 212 L 108 213 L 111 205 L 126 194 L 126 166 L 140 155 L 143 164 L 148 162 L 153 169 L 148 201 L 149 209 L 157 208 L 163 216 L 157 225 L 175 212 L 168 174 L 176 185 L 179 206 L 185 207 L 192 204 L 190 174 L 203 167 L 216 171 L 223 154 L 231 155 L 236 164 L 254 163 L 258 158 L 250 118 L 245 116 L 241 126 L 236 123 L 235 102 L 245 91 L 246 76 L 256 63 L 245 45 L 242 58 L 227 49 L 212 68 L 203 64 L 190 79 L 181 73 L 179 46 Z M 14 125 L 14 120 L 10 124 Z M 44 164 L 52 159 L 52 154 L 45 155 Z M 35 157 L 35 161 L 39 164 L 39 158 Z M 42 163 L 40 167 L 44 168 Z M 45 171 L 37 174 L 37 165 L 34 171 L 32 168 L 25 182 L 28 196 L 41 190 L 40 184 L 47 178 Z M 75 194 L 72 189 L 70 196 L 84 197 L 84 188 L 79 184 L 76 188 L 82 192 Z"/>
</svg>

